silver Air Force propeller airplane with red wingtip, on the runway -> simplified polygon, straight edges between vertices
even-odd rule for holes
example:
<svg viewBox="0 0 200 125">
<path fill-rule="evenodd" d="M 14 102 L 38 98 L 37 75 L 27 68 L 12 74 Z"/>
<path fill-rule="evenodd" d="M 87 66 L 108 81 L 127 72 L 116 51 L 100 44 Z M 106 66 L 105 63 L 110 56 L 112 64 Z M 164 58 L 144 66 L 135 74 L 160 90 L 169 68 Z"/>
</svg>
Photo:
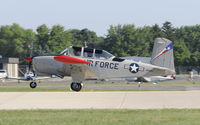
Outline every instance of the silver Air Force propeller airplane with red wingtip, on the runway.
<svg viewBox="0 0 200 125">
<path fill-rule="evenodd" d="M 117 49 L 117 48 L 116 48 Z M 70 46 L 58 55 L 31 56 L 25 59 L 34 73 L 71 76 L 71 89 L 80 91 L 85 78 L 130 78 L 167 76 L 175 73 L 173 43 L 156 38 L 150 63 L 115 57 L 109 52 L 94 48 Z M 36 80 L 30 83 L 36 88 Z"/>
</svg>

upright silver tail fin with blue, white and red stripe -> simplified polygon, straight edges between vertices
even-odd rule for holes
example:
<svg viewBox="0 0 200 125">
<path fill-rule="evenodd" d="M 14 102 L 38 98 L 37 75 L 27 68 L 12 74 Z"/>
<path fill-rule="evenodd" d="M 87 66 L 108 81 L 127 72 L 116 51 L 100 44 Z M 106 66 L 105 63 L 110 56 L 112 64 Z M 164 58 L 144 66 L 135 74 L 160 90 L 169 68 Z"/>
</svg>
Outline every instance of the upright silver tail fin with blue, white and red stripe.
<svg viewBox="0 0 200 125">
<path fill-rule="evenodd" d="M 155 39 L 151 64 L 175 70 L 172 41 L 165 38 Z"/>
</svg>

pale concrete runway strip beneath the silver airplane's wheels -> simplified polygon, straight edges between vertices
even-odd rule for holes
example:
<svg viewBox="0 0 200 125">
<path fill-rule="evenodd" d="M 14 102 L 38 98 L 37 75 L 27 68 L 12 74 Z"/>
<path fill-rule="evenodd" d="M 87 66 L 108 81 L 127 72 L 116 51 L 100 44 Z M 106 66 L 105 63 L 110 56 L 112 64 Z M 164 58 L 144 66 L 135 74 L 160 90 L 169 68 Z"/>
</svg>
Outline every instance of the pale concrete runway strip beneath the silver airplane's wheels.
<svg viewBox="0 0 200 125">
<path fill-rule="evenodd" d="M 0 92 L 0 109 L 200 108 L 200 91 Z"/>
</svg>

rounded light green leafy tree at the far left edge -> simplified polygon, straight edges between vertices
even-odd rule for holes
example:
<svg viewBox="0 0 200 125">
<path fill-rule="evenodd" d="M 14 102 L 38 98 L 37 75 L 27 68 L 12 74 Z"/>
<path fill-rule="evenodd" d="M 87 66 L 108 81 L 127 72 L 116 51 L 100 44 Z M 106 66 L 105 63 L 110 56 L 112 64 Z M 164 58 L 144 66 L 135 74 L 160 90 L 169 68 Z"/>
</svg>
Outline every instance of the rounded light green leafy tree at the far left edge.
<svg viewBox="0 0 200 125">
<path fill-rule="evenodd" d="M 1 26 L 0 28 L 0 53 L 5 57 L 19 57 L 20 64 L 29 55 L 28 44 L 35 39 L 35 34 L 30 29 L 23 29 L 18 24 Z"/>
</svg>

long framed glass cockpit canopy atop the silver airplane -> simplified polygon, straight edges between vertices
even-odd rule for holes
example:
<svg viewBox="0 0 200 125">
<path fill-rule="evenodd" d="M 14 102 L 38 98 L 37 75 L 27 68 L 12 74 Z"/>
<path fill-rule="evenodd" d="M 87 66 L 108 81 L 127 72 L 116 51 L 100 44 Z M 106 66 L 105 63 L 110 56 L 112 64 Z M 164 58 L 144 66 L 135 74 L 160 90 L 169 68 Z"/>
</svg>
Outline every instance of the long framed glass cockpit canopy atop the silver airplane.
<svg viewBox="0 0 200 125">
<path fill-rule="evenodd" d="M 86 58 L 109 59 L 114 57 L 105 50 L 91 49 L 84 47 L 70 46 L 60 53 L 60 55 L 81 56 Z"/>
</svg>

